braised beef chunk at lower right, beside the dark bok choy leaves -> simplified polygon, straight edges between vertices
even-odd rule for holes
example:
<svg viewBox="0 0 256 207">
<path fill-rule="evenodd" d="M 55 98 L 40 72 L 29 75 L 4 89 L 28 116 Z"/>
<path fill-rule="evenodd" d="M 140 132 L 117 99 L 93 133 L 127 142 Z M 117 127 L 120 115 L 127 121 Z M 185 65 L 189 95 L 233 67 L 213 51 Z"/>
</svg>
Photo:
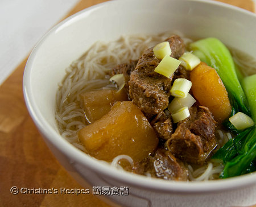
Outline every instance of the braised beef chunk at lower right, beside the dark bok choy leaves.
<svg viewBox="0 0 256 207">
<path fill-rule="evenodd" d="M 207 107 L 192 106 L 189 112 L 191 115 L 177 124 L 166 144 L 184 162 L 203 164 L 216 147 L 216 122 Z"/>
</svg>

